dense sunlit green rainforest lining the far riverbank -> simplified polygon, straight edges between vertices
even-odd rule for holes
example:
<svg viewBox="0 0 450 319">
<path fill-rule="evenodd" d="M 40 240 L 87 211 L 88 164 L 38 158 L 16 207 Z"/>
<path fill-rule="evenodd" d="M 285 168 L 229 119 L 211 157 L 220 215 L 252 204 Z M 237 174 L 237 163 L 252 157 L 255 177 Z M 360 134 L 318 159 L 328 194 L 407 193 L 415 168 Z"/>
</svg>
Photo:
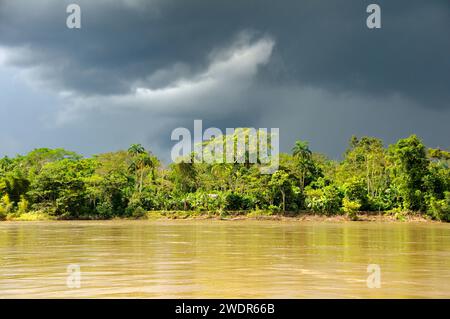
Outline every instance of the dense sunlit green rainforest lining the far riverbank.
<svg viewBox="0 0 450 319">
<path fill-rule="evenodd" d="M 364 211 L 450 221 L 450 153 L 415 135 L 387 148 L 377 138 L 352 137 L 342 161 L 305 141 L 279 156 L 279 170 L 268 175 L 245 162 L 164 166 L 139 144 L 90 158 L 36 149 L 0 159 L 0 219 L 140 218 L 151 211 L 356 219 Z"/>
</svg>

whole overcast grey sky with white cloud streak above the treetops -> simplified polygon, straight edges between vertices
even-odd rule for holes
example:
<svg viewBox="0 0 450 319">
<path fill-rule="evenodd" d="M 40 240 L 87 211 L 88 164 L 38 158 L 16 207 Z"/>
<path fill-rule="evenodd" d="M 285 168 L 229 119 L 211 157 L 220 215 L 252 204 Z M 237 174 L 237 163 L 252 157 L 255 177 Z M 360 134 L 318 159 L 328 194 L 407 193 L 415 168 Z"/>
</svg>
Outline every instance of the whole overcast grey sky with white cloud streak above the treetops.
<svg viewBox="0 0 450 319">
<path fill-rule="evenodd" d="M 352 134 L 448 148 L 450 1 L 0 0 L 0 119 L 0 156 L 142 143 L 167 161 L 194 119 L 332 158 Z"/>
</svg>

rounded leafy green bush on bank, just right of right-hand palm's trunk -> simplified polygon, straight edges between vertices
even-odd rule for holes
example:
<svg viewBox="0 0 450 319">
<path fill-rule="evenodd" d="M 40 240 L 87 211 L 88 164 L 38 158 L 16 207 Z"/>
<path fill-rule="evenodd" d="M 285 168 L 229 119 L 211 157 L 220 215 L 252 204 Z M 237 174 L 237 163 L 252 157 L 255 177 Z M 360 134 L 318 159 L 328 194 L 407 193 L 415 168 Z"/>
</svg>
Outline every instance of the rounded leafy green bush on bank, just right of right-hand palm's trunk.
<svg viewBox="0 0 450 319">
<path fill-rule="evenodd" d="M 306 189 L 306 207 L 313 212 L 332 214 L 338 212 L 342 204 L 342 194 L 334 185 L 321 189 Z"/>
</svg>

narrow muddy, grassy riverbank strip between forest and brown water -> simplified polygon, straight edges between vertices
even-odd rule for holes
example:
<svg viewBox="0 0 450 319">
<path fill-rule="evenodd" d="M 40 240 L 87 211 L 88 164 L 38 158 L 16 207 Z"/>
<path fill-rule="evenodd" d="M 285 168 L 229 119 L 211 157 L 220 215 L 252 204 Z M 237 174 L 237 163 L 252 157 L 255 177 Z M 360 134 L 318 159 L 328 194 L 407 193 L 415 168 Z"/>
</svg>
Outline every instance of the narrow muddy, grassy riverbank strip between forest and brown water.
<svg viewBox="0 0 450 319">
<path fill-rule="evenodd" d="M 29 212 L 21 215 L 11 214 L 5 221 L 51 221 L 51 220 L 279 220 L 279 221 L 330 221 L 330 222 L 426 222 L 440 223 L 429 216 L 412 212 L 359 212 L 350 218 L 345 214 L 318 214 L 310 211 L 274 213 L 271 211 L 150 211 L 124 218 L 105 218 L 104 216 L 78 216 L 76 218 L 55 217 L 42 212 Z"/>
</svg>

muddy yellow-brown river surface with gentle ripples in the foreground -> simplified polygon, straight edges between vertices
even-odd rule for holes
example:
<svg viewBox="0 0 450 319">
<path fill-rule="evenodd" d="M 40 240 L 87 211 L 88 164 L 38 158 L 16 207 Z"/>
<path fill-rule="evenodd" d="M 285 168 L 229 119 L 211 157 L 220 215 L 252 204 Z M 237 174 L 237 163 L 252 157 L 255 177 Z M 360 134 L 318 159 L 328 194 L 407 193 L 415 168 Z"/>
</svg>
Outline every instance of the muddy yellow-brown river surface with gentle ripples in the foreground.
<svg viewBox="0 0 450 319">
<path fill-rule="evenodd" d="M 16 297 L 450 298 L 450 224 L 1 222 Z"/>
</svg>

